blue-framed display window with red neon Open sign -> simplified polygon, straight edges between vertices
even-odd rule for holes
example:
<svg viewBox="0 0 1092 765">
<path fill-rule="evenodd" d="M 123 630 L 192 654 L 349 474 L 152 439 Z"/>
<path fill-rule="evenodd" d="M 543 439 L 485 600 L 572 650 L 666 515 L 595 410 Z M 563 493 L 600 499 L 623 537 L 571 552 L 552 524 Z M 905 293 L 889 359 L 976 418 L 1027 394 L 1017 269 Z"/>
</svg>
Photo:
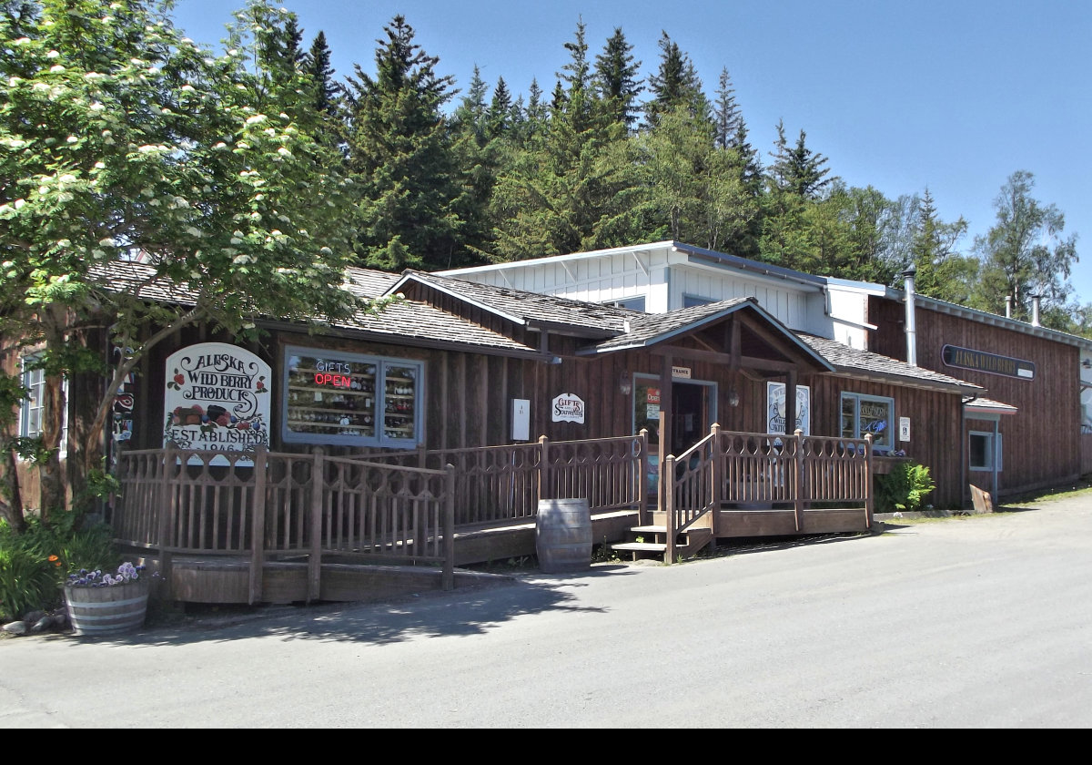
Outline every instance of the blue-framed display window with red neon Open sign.
<svg viewBox="0 0 1092 765">
<path fill-rule="evenodd" d="M 285 349 L 282 435 L 287 443 L 416 446 L 424 363 Z"/>
</svg>

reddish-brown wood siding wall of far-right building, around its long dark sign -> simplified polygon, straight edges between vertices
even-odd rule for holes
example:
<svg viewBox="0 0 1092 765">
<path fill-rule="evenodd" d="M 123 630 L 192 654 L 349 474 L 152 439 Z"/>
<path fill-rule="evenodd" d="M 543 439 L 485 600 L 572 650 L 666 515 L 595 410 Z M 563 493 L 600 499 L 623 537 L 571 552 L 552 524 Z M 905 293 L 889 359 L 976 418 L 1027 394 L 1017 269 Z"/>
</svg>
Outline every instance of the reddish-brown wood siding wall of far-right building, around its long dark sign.
<svg viewBox="0 0 1092 765">
<path fill-rule="evenodd" d="M 1080 389 L 1078 373 L 1080 351 L 1046 338 L 1037 338 L 1004 327 L 918 308 L 917 364 L 986 388 L 985 398 L 1012 404 L 1018 412 L 1001 415 L 1002 470 L 998 475 L 998 494 L 1059 485 L 1080 474 Z M 906 339 L 903 332 L 903 304 L 878 297 L 870 298 L 869 321 L 879 329 L 874 332 L 871 351 L 905 361 Z M 945 345 L 958 345 L 1001 356 L 1022 358 L 1035 364 L 1032 380 L 993 375 L 973 369 L 949 367 L 941 354 Z M 982 422 L 965 429 L 986 429 Z M 962 442 L 965 449 L 966 436 Z M 952 442 L 956 444 L 956 442 Z M 988 473 L 970 473 L 968 483 L 983 489 Z"/>
</svg>

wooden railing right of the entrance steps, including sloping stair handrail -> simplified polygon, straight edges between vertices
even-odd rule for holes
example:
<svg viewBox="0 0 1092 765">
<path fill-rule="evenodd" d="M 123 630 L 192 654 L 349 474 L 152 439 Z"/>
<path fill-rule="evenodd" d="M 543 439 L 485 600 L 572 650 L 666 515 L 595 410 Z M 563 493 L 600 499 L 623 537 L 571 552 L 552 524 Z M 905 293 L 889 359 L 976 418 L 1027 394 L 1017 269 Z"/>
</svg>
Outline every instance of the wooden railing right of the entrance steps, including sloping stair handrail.
<svg viewBox="0 0 1092 765">
<path fill-rule="evenodd" d="M 667 543 L 713 510 L 791 505 L 796 530 L 814 503 L 859 504 L 871 525 L 871 437 L 835 438 L 769 433 L 710 434 L 664 459 Z M 712 521 L 715 523 L 715 518 Z M 715 529 L 714 529 L 715 532 Z M 667 560 L 674 560 L 673 549 Z"/>
</svg>

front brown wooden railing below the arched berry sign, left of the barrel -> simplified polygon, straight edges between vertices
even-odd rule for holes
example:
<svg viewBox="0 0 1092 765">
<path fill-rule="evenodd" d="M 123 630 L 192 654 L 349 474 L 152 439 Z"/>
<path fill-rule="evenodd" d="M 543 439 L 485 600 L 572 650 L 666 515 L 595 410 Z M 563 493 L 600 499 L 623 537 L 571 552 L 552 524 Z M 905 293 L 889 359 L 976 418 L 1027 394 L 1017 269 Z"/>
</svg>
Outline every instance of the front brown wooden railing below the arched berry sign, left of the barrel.
<svg viewBox="0 0 1092 765">
<path fill-rule="evenodd" d="M 268 557 L 307 556 L 308 600 L 324 555 L 442 567 L 454 579 L 454 468 L 430 470 L 356 459 L 176 449 L 124 451 L 115 538 L 174 555 L 245 555 L 250 600 Z"/>
</svg>

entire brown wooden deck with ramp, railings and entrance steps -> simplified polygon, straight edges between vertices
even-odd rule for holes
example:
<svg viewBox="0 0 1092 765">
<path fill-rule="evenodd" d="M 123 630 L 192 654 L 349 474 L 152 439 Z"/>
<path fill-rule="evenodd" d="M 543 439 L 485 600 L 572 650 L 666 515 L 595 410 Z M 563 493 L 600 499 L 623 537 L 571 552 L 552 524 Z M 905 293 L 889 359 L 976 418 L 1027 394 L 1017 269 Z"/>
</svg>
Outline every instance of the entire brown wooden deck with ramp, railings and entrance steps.
<svg viewBox="0 0 1092 765">
<path fill-rule="evenodd" d="M 534 555 L 544 497 L 587 499 L 593 544 L 668 563 L 719 539 L 864 531 L 870 457 L 867 440 L 714 426 L 668 456 L 673 480 L 650 506 L 644 433 L 367 457 L 168 446 L 122 455 L 111 522 L 171 600 L 359 601 L 451 589 L 467 576 L 456 566 Z"/>
</svg>

